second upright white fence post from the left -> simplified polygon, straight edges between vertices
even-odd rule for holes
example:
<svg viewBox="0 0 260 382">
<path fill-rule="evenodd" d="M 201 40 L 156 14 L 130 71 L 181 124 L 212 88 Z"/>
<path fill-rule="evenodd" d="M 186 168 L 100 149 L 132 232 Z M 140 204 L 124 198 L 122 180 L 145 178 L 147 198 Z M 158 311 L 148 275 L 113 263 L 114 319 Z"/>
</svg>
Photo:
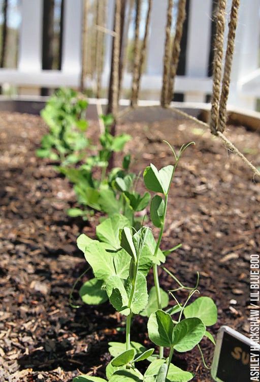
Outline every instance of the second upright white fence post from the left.
<svg viewBox="0 0 260 382">
<path fill-rule="evenodd" d="M 77 75 L 78 80 L 81 73 L 81 25 L 82 0 L 65 0 L 61 71 Z"/>
</svg>

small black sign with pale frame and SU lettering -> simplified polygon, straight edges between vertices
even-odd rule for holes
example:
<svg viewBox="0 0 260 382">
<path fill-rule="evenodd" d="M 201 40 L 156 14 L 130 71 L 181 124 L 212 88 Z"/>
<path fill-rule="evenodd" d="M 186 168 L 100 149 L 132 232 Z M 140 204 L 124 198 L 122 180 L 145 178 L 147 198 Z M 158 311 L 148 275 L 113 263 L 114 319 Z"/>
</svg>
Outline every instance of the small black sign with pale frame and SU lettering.
<svg viewBox="0 0 260 382">
<path fill-rule="evenodd" d="M 218 382 L 249 382 L 259 380 L 260 346 L 236 330 L 221 326 L 212 362 L 211 375 Z M 250 370 L 250 355 L 254 354 L 254 367 Z M 251 360 L 251 366 L 253 362 Z M 258 365 L 258 366 L 257 366 Z M 252 379 L 250 371 L 256 371 Z M 250 379 L 251 377 L 251 379 Z M 258 379 L 257 379 L 258 378 Z"/>
</svg>

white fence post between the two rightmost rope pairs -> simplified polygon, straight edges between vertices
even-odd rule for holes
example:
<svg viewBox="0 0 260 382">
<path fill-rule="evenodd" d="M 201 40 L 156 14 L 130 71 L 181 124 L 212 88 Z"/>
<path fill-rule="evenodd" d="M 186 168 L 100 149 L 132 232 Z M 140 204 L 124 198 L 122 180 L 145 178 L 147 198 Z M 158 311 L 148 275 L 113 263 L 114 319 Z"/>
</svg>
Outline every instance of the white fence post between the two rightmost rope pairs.
<svg viewBox="0 0 260 382">
<path fill-rule="evenodd" d="M 193 78 L 208 75 L 210 52 L 211 0 L 192 0 L 189 5 L 186 73 Z M 205 102 L 205 94 L 198 91 L 185 93 L 186 102 Z"/>
</svg>

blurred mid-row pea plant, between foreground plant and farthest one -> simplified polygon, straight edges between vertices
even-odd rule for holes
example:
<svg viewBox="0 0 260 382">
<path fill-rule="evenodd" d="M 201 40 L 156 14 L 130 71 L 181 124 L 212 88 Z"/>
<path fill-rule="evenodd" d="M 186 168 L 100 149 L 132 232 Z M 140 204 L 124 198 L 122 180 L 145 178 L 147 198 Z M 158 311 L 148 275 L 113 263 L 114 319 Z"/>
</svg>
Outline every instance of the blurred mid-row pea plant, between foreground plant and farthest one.
<svg viewBox="0 0 260 382">
<path fill-rule="evenodd" d="M 137 192 L 138 178 L 134 173 L 129 173 L 131 156 L 125 155 L 122 166 L 108 172 L 112 152 L 122 151 L 131 136 L 121 134 L 113 137 L 109 132 L 113 117 L 103 115 L 102 119 L 105 132 L 100 137 L 101 149 L 98 153 L 89 156 L 78 168 L 59 167 L 59 171 L 74 184 L 78 204 L 82 206 L 82 208 L 70 208 L 68 214 L 72 217 L 82 216 L 86 220 L 91 216 L 91 209 L 105 212 L 108 216 L 121 212 L 134 227 L 140 227 L 142 214 L 138 218 L 136 213 L 145 210 L 150 201 L 150 194 L 146 192 L 141 195 Z M 93 176 L 96 168 L 101 168 L 99 178 Z"/>
</svg>

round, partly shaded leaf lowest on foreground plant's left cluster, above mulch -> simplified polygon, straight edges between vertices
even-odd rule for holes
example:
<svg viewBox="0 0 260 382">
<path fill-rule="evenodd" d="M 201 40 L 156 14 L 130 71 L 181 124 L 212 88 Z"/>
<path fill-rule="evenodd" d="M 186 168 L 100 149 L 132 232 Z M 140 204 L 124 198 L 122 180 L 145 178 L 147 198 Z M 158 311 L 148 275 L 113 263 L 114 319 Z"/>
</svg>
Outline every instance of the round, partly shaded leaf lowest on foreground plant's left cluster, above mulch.
<svg viewBox="0 0 260 382">
<path fill-rule="evenodd" d="M 92 278 L 86 281 L 79 290 L 85 304 L 99 305 L 108 300 L 107 292 L 102 289 L 103 280 Z"/>
</svg>

